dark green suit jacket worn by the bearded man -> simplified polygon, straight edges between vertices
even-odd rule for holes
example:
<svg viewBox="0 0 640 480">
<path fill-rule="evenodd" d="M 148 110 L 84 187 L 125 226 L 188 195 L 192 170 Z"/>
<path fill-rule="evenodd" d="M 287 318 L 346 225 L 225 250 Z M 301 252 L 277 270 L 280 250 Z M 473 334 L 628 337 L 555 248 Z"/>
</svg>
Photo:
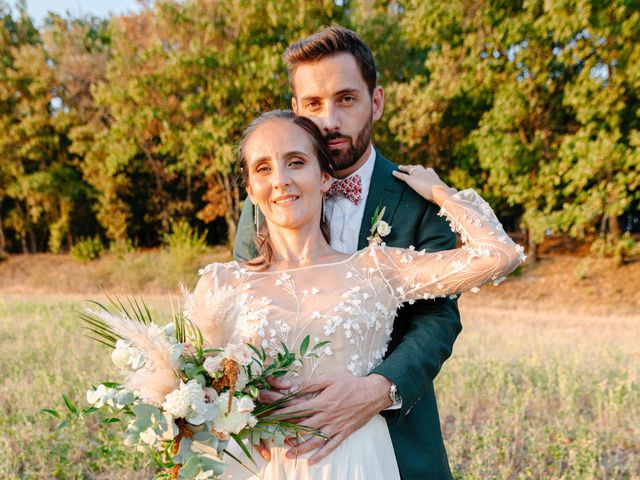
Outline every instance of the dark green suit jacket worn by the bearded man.
<svg viewBox="0 0 640 480">
<path fill-rule="evenodd" d="M 391 172 L 396 165 L 376 153 L 376 163 L 360 227 L 358 248 L 367 246 L 370 219 L 376 207 L 386 207 L 389 246 L 435 252 L 455 248 L 455 236 L 439 208 L 415 193 Z M 253 205 L 245 203 L 234 256 L 256 256 Z M 403 480 L 450 479 L 433 380 L 449 358 L 462 325 L 455 300 L 422 300 L 398 311 L 385 360 L 371 373 L 384 375 L 398 388 L 402 408 L 382 412 L 387 419 Z"/>
</svg>

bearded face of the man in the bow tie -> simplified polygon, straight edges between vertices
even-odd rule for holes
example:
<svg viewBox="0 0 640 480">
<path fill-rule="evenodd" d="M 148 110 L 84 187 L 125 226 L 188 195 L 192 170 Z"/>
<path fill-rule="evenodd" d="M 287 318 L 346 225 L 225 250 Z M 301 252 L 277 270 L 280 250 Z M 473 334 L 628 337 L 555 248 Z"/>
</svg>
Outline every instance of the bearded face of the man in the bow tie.
<svg viewBox="0 0 640 480">
<path fill-rule="evenodd" d="M 353 55 L 340 53 L 303 63 L 293 73 L 293 110 L 320 128 L 337 173 L 349 174 L 367 160 L 371 125 L 382 115 L 384 93 L 369 93 Z"/>
</svg>

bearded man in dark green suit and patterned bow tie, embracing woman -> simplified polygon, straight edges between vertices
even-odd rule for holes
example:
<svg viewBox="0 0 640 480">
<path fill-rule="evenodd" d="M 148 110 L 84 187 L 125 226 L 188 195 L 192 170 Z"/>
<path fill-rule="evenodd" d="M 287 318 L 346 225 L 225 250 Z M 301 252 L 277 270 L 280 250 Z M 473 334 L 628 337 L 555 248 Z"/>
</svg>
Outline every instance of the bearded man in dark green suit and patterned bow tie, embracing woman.
<svg viewBox="0 0 640 480">
<path fill-rule="evenodd" d="M 353 253 L 367 245 L 371 218 L 385 208 L 389 246 L 439 251 L 455 237 L 438 208 L 391 172 L 396 165 L 371 145 L 372 124 L 382 116 L 384 92 L 376 85 L 369 47 L 352 31 L 326 28 L 290 45 L 284 54 L 297 115 L 313 120 L 334 158 L 335 182 L 327 200 L 331 245 Z M 335 187 L 335 188 L 334 188 Z M 240 218 L 234 256 L 256 256 L 253 205 Z M 433 380 L 449 358 L 462 325 L 452 299 L 422 300 L 398 312 L 384 361 L 366 377 L 324 375 L 310 388 L 318 395 L 296 405 L 315 412 L 305 425 L 327 437 L 301 441 L 291 456 L 317 450 L 315 463 L 352 432 L 382 413 L 387 419 L 403 480 L 450 479 Z"/>
</svg>

